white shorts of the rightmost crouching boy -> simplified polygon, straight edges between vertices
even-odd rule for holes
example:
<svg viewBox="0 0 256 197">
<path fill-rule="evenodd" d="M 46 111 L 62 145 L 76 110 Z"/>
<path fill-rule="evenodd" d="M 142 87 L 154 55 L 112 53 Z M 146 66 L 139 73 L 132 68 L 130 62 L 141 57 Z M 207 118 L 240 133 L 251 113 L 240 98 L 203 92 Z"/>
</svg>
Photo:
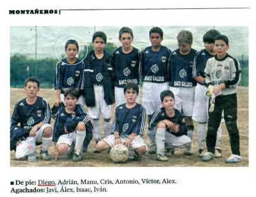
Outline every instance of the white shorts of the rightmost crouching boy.
<svg viewBox="0 0 256 197">
<path fill-rule="evenodd" d="M 186 143 L 191 143 L 191 139 L 188 136 L 174 136 L 170 132 L 165 132 L 165 144 L 172 145 L 172 146 L 180 146 L 184 148 L 183 145 Z"/>
</svg>

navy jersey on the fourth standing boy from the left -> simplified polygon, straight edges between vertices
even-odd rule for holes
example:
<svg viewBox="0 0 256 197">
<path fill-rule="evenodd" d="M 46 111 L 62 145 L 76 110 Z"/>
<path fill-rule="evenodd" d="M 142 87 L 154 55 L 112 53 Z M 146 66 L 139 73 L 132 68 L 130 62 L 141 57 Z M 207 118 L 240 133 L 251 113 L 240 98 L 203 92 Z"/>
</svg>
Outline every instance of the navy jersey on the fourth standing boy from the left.
<svg viewBox="0 0 256 197">
<path fill-rule="evenodd" d="M 171 51 L 161 46 L 159 51 L 147 47 L 141 52 L 140 75 L 142 81 L 164 83 L 168 81 L 168 61 Z"/>
</svg>

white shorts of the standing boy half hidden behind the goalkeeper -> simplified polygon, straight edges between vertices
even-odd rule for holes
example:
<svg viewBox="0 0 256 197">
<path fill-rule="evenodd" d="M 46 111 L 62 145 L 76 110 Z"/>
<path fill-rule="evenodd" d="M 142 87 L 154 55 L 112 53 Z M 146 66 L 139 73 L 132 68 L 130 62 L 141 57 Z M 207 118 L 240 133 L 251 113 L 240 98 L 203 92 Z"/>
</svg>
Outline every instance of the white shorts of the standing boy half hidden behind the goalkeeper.
<svg viewBox="0 0 256 197">
<path fill-rule="evenodd" d="M 196 122 L 208 122 L 209 97 L 206 95 L 207 88 L 197 84 L 195 88 L 195 102 L 192 119 Z"/>
</svg>

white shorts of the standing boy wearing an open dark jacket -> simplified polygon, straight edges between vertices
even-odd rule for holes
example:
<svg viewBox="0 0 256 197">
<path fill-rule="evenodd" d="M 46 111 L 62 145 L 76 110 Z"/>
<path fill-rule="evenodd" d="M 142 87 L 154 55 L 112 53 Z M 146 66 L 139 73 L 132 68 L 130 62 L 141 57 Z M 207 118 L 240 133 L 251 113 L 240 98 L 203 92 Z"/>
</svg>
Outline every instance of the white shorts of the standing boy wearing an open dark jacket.
<svg viewBox="0 0 256 197">
<path fill-rule="evenodd" d="M 103 119 L 111 118 L 111 105 L 107 105 L 104 100 L 103 86 L 93 86 L 95 95 L 95 107 L 88 107 L 90 118 L 99 119 L 100 114 Z"/>
</svg>

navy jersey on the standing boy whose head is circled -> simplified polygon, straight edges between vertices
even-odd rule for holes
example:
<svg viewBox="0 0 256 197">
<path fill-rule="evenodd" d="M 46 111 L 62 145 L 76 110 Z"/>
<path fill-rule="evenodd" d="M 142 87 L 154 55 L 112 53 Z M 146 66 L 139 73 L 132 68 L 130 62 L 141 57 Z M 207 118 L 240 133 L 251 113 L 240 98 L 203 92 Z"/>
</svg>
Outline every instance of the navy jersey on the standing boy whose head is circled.
<svg viewBox="0 0 256 197">
<path fill-rule="evenodd" d="M 79 59 L 73 64 L 68 63 L 67 58 L 58 61 L 56 65 L 55 90 L 64 93 L 70 87 L 82 90 L 84 63 Z"/>
</svg>

